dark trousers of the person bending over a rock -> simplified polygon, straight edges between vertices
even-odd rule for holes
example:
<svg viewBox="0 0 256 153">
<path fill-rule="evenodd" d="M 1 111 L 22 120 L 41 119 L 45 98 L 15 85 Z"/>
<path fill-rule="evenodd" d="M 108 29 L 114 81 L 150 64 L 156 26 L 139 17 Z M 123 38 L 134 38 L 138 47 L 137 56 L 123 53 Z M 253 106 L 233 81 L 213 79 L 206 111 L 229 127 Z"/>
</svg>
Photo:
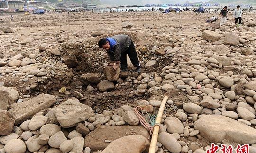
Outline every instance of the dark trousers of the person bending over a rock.
<svg viewBox="0 0 256 153">
<path fill-rule="evenodd" d="M 139 66 L 138 56 L 137 56 L 137 53 L 136 53 L 136 50 L 135 50 L 132 40 L 131 40 L 131 45 L 129 46 L 129 48 L 125 52 L 121 53 L 121 58 L 120 58 L 121 69 L 127 68 L 127 59 L 126 59 L 127 54 L 133 64 L 133 66 L 134 67 Z"/>
</svg>

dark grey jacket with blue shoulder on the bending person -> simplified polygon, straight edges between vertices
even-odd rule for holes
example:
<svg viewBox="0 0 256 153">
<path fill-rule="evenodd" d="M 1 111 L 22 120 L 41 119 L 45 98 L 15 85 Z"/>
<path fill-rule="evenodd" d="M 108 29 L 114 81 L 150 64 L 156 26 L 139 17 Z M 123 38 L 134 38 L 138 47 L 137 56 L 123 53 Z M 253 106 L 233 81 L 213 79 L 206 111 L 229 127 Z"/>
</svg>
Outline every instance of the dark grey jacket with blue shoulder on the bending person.
<svg viewBox="0 0 256 153">
<path fill-rule="evenodd" d="M 121 53 L 124 53 L 131 45 L 131 38 L 128 35 L 115 35 L 111 38 L 116 43 L 113 46 L 111 46 L 113 43 L 110 43 L 110 50 L 107 51 L 110 61 L 120 61 Z"/>
</svg>

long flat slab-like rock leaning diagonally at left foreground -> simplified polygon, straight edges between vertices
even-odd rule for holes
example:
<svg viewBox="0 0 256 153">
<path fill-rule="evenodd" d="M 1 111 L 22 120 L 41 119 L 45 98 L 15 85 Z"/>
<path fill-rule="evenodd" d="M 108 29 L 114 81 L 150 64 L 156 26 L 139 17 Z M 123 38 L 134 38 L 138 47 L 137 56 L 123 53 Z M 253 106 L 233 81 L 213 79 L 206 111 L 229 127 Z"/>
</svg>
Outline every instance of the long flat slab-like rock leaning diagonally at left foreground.
<svg viewBox="0 0 256 153">
<path fill-rule="evenodd" d="M 18 125 L 27 119 L 30 119 L 39 111 L 52 106 L 55 101 L 56 97 L 54 95 L 40 94 L 28 101 L 12 104 L 9 113 L 15 118 L 14 124 Z"/>
</svg>

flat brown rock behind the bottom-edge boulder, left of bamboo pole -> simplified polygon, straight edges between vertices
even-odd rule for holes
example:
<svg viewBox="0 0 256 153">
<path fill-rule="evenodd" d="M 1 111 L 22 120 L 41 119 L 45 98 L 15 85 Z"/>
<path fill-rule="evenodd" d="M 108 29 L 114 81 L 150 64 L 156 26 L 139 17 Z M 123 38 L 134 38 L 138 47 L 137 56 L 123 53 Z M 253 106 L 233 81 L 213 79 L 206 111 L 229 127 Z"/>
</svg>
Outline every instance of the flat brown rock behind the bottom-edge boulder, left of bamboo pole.
<svg viewBox="0 0 256 153">
<path fill-rule="evenodd" d="M 143 135 L 150 139 L 149 133 L 142 126 L 97 126 L 85 136 L 84 146 L 91 148 L 92 151 L 104 150 L 109 145 L 105 140 L 114 141 L 128 135 Z"/>
</svg>

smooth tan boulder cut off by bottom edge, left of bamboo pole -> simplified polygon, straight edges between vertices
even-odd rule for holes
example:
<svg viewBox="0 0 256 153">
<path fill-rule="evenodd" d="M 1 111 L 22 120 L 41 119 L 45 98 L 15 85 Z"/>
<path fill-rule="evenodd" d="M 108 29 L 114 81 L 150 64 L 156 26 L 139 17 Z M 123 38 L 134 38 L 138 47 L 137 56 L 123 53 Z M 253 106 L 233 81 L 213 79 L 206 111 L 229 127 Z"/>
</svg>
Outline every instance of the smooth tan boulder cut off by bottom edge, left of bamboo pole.
<svg viewBox="0 0 256 153">
<path fill-rule="evenodd" d="M 114 140 L 101 153 L 142 153 L 149 141 L 142 135 L 129 135 Z"/>
</svg>

